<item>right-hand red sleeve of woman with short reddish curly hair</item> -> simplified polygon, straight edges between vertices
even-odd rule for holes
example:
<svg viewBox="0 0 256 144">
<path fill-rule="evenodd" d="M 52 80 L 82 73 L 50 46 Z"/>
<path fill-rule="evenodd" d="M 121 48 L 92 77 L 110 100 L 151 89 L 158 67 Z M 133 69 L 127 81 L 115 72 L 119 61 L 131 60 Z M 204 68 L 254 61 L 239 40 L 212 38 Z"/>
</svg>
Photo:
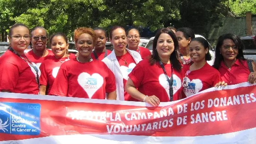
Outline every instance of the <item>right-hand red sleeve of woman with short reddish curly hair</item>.
<svg viewBox="0 0 256 144">
<path fill-rule="evenodd" d="M 116 90 L 115 75 L 114 73 L 103 63 L 105 69 L 108 71 L 108 77 L 106 77 L 106 93 L 111 93 Z"/>
</svg>

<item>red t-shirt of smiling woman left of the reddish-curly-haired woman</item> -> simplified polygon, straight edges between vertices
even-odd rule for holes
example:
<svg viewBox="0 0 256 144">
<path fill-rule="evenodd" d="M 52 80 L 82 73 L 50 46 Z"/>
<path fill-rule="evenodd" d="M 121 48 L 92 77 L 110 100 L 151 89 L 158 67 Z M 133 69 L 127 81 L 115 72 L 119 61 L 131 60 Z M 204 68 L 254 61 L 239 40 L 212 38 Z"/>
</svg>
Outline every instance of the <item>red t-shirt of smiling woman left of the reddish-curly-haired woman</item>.
<svg viewBox="0 0 256 144">
<path fill-rule="evenodd" d="M 45 60 L 40 65 L 40 85 L 48 86 L 46 94 L 49 94 L 62 63 L 75 57 L 76 56 L 74 54 L 71 54 L 69 58 L 65 57 L 60 60 L 55 56 L 45 57 Z"/>
</svg>

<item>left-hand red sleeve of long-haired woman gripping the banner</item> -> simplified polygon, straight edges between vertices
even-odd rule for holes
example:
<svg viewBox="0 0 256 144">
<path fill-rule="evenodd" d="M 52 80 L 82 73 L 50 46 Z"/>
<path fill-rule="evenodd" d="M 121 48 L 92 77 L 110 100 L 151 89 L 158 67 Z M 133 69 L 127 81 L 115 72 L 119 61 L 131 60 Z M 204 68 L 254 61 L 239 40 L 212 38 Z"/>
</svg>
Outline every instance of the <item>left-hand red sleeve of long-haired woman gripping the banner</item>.
<svg viewBox="0 0 256 144">
<path fill-rule="evenodd" d="M 137 64 L 128 76 L 132 80 L 135 88 L 138 88 L 144 79 L 144 70 L 141 65 Z"/>
</svg>

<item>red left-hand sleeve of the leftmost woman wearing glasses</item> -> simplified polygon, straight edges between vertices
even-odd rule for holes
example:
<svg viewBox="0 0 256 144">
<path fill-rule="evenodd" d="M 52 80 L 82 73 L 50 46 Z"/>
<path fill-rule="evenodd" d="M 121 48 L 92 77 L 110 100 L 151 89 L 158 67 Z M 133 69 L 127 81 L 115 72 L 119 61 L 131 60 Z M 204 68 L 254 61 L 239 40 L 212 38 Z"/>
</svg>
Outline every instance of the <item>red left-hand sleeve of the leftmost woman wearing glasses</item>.
<svg viewBox="0 0 256 144">
<path fill-rule="evenodd" d="M 0 91 L 14 92 L 19 77 L 18 67 L 10 63 L 0 64 Z"/>
</svg>

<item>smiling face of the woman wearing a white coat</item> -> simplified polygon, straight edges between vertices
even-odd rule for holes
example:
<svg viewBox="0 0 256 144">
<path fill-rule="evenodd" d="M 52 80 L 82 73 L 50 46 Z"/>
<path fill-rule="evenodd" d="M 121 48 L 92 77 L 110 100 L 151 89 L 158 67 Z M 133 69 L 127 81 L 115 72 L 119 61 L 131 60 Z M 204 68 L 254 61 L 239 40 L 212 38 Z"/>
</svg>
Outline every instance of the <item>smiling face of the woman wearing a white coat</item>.
<svg viewBox="0 0 256 144">
<path fill-rule="evenodd" d="M 127 45 L 125 31 L 122 28 L 117 28 L 112 32 L 112 39 L 110 39 L 114 50 L 118 53 L 123 53 Z"/>
</svg>

